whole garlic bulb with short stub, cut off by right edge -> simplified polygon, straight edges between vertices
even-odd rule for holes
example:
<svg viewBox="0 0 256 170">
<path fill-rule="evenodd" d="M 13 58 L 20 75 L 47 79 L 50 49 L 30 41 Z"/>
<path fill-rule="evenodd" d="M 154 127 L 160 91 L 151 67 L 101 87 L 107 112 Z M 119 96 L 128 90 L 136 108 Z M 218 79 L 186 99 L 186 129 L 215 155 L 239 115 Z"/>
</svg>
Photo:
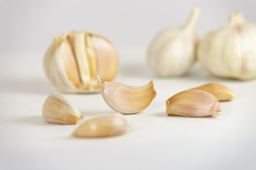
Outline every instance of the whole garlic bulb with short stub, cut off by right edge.
<svg viewBox="0 0 256 170">
<path fill-rule="evenodd" d="M 198 45 L 198 60 L 218 77 L 252 79 L 256 77 L 256 25 L 236 12 L 230 23 L 208 33 Z"/>
</svg>

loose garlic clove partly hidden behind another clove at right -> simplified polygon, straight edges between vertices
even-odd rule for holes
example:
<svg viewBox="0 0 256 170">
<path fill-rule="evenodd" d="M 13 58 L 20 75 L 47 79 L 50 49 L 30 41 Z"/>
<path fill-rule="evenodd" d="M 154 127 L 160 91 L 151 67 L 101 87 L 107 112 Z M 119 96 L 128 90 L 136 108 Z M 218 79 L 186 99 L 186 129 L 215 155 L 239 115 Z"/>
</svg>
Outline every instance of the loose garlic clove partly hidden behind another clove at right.
<svg viewBox="0 0 256 170">
<path fill-rule="evenodd" d="M 235 92 L 223 84 L 209 83 L 204 84 L 203 86 L 195 87 L 193 89 L 206 91 L 210 94 L 213 94 L 213 96 L 215 96 L 218 101 L 230 101 L 231 99 L 235 98 Z"/>
</svg>

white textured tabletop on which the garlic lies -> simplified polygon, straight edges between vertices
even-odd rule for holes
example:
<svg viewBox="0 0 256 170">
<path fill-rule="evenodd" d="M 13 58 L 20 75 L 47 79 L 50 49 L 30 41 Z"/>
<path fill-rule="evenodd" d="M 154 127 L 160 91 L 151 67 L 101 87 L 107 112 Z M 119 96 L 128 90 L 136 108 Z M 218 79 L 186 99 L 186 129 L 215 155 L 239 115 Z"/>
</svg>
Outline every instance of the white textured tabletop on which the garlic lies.
<svg viewBox="0 0 256 170">
<path fill-rule="evenodd" d="M 43 102 L 58 89 L 43 72 L 43 53 L 1 54 L 0 169 L 256 169 L 255 80 L 219 79 L 198 63 L 184 77 L 163 79 L 146 66 L 143 50 L 119 52 L 115 81 L 141 86 L 152 79 L 157 95 L 142 113 L 124 115 L 132 125 L 125 135 L 98 139 L 70 134 L 95 115 L 115 113 L 101 94 L 62 93 L 85 118 L 45 123 Z M 217 118 L 166 116 L 166 99 L 213 81 L 237 94 L 220 103 Z"/>
</svg>

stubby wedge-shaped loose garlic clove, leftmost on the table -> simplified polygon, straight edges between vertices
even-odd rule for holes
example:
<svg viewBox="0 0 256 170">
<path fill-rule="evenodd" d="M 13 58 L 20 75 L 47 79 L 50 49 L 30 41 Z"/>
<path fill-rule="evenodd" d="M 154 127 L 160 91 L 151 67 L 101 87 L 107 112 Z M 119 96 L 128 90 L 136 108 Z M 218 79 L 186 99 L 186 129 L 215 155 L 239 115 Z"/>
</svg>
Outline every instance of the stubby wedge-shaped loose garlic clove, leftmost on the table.
<svg viewBox="0 0 256 170">
<path fill-rule="evenodd" d="M 42 113 L 47 123 L 61 125 L 74 125 L 83 118 L 80 111 L 57 92 L 46 98 Z"/>
</svg>

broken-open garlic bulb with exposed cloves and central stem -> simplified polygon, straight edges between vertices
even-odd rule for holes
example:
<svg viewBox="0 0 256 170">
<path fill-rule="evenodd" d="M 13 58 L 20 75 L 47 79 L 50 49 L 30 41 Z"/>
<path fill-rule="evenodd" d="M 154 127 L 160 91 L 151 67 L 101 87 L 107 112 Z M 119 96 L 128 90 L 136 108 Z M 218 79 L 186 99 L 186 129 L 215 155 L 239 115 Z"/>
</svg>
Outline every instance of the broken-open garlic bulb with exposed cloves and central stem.
<svg viewBox="0 0 256 170">
<path fill-rule="evenodd" d="M 102 35 L 85 31 L 55 37 L 43 60 L 53 85 L 69 93 L 100 91 L 97 75 L 112 81 L 118 64 L 114 45 Z"/>
</svg>

